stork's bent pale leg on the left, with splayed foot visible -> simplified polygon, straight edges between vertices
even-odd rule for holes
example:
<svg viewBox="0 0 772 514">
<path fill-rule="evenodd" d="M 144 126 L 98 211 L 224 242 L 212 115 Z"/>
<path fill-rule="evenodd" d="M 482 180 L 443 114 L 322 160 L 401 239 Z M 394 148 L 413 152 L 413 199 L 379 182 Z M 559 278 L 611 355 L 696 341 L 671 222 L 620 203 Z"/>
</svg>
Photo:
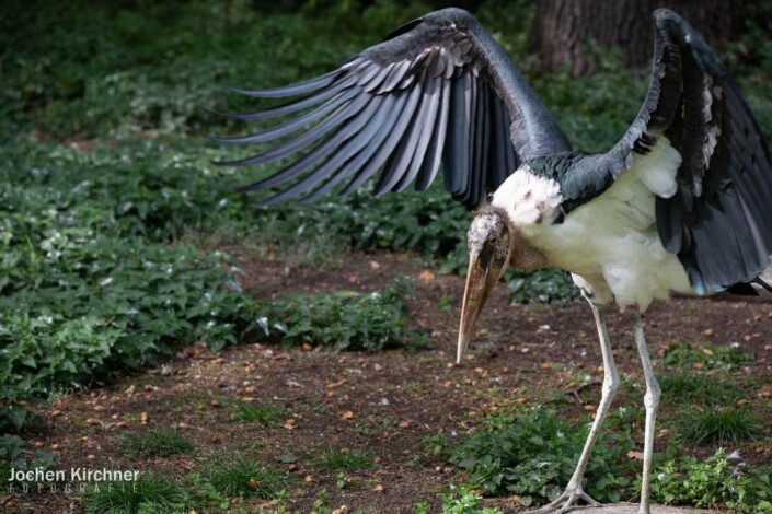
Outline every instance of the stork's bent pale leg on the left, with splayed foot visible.
<svg viewBox="0 0 772 514">
<path fill-rule="evenodd" d="M 588 299 L 589 301 L 589 299 Z M 600 425 L 603 423 L 606 416 L 609 413 L 611 407 L 611 400 L 613 400 L 614 394 L 619 388 L 619 373 L 617 372 L 617 365 L 614 364 L 614 358 L 611 354 L 611 344 L 609 343 L 609 334 L 606 330 L 606 319 L 603 312 L 598 308 L 592 302 L 590 307 L 592 308 L 592 315 L 595 316 L 595 324 L 598 328 L 598 338 L 600 339 L 600 352 L 603 357 L 603 385 L 601 388 L 600 404 L 598 405 L 598 410 L 595 414 L 595 421 L 590 428 L 590 433 L 585 442 L 585 447 L 581 451 L 581 456 L 574 470 L 574 475 L 568 481 L 565 491 L 557 497 L 553 502 L 544 505 L 537 511 L 532 511 L 533 514 L 546 514 L 552 512 L 564 513 L 574 509 L 574 505 L 579 500 L 584 500 L 590 505 L 598 505 L 599 503 L 590 498 L 581 489 L 581 480 L 585 477 L 585 468 L 587 467 L 587 462 L 590 458 L 590 452 L 595 442 L 598 440 L 600 434 Z"/>
</svg>

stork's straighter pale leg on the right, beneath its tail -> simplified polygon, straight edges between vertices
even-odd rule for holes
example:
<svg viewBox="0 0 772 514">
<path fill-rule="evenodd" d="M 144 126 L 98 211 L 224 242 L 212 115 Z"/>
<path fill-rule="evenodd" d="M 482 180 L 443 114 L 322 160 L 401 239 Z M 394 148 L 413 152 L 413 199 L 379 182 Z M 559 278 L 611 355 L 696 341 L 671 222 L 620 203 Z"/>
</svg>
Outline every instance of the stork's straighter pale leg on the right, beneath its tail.
<svg viewBox="0 0 772 514">
<path fill-rule="evenodd" d="M 633 330 L 635 332 L 635 344 L 638 347 L 641 355 L 641 364 L 643 365 L 644 379 L 646 381 L 646 395 L 644 395 L 644 405 L 646 406 L 646 429 L 644 432 L 644 469 L 641 480 L 641 506 L 638 514 L 649 514 L 648 495 L 652 484 L 652 454 L 654 453 L 654 425 L 657 420 L 657 407 L 659 406 L 659 397 L 661 389 L 659 383 L 654 376 L 652 369 L 652 360 L 648 358 L 646 340 L 643 335 L 643 325 L 641 323 L 641 313 L 635 309 L 632 314 Z"/>
</svg>

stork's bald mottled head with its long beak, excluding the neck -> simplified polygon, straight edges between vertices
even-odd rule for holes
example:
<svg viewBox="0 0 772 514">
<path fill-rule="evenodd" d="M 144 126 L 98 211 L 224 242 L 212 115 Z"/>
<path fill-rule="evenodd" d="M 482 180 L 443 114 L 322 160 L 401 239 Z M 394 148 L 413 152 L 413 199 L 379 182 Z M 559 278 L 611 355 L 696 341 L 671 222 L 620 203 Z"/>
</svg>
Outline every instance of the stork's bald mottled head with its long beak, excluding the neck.
<svg viewBox="0 0 772 514">
<path fill-rule="evenodd" d="M 511 230 L 503 209 L 488 206 L 477 211 L 466 233 L 469 270 L 459 327 L 459 363 L 466 353 L 474 322 L 493 287 L 507 269 L 512 250 L 511 241 Z"/>
</svg>

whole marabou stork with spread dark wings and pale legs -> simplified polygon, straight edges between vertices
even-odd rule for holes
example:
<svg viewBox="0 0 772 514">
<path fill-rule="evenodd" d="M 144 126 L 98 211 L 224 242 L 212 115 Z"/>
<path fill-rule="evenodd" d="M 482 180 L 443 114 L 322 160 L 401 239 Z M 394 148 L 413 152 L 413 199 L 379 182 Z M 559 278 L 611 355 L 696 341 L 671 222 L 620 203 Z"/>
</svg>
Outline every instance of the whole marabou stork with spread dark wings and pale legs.
<svg viewBox="0 0 772 514">
<path fill-rule="evenodd" d="M 759 126 L 716 55 L 678 14 L 654 12 L 654 65 L 644 104 L 607 153 L 577 153 L 507 54 L 468 12 L 445 9 L 415 20 L 341 68 L 285 87 L 234 90 L 299 100 L 232 115 L 298 114 L 252 136 L 219 141 L 273 149 L 228 165 L 252 165 L 307 150 L 275 175 L 242 188 L 296 180 L 262 201 L 304 195 L 343 180 L 341 194 L 379 171 L 375 195 L 411 183 L 426 189 L 442 162 L 456 200 L 476 208 L 458 340 L 472 326 L 507 265 L 555 266 L 572 273 L 600 338 L 602 397 L 565 492 L 538 512 L 565 512 L 583 476 L 619 375 L 603 307 L 632 311 L 646 382 L 641 513 L 649 512 L 654 427 L 660 388 L 641 313 L 671 293 L 753 293 L 772 253 L 772 159 Z M 488 194 L 493 196 L 487 200 Z M 765 285 L 765 284 L 764 284 Z"/>
</svg>

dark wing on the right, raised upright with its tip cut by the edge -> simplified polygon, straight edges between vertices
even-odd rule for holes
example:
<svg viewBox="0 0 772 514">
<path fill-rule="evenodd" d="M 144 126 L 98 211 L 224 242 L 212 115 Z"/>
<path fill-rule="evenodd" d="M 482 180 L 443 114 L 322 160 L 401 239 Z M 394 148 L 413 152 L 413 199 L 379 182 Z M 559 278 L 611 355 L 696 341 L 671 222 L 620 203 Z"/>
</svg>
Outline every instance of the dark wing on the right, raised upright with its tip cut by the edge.
<svg viewBox="0 0 772 514">
<path fill-rule="evenodd" d="M 692 288 L 722 291 L 752 281 L 772 253 L 772 159 L 737 86 L 678 14 L 654 13 L 655 56 L 646 101 L 606 154 L 615 173 L 631 152 L 665 135 L 682 157 L 677 191 L 657 198 L 657 231 Z"/>
</svg>

